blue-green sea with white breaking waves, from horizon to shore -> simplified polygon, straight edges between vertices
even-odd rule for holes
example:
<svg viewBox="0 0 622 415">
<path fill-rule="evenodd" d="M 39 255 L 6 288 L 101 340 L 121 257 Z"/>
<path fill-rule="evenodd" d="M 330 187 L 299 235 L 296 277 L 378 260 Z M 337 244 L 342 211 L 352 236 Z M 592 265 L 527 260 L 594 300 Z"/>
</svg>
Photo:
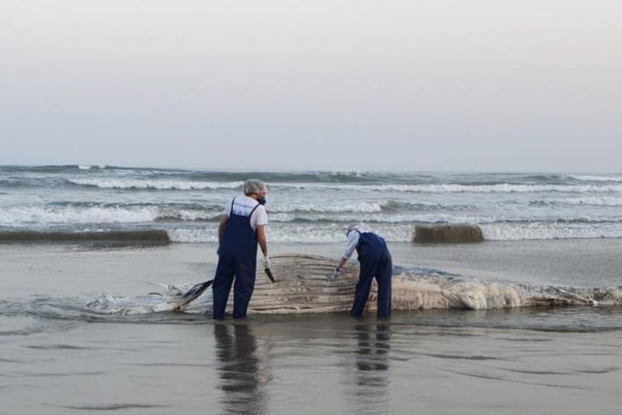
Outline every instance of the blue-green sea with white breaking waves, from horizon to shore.
<svg viewBox="0 0 622 415">
<path fill-rule="evenodd" d="M 622 174 L 220 172 L 0 167 L 0 230 L 166 230 L 214 242 L 246 178 L 269 186 L 270 240 L 328 243 L 348 223 L 410 241 L 416 223 L 477 223 L 489 241 L 622 237 Z"/>
</svg>

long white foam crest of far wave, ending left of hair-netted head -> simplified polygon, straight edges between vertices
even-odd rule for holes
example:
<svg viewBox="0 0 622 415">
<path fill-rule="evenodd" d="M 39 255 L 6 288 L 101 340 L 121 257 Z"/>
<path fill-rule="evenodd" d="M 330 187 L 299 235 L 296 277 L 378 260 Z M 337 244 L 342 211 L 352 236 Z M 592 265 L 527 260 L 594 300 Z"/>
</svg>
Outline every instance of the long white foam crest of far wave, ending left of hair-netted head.
<svg viewBox="0 0 622 415">
<path fill-rule="evenodd" d="M 168 180 L 135 180 L 129 178 L 70 178 L 69 183 L 81 186 L 100 187 L 102 189 L 155 189 L 155 190 L 209 190 L 235 189 L 243 182 L 198 182 L 198 181 L 168 181 Z"/>
</svg>

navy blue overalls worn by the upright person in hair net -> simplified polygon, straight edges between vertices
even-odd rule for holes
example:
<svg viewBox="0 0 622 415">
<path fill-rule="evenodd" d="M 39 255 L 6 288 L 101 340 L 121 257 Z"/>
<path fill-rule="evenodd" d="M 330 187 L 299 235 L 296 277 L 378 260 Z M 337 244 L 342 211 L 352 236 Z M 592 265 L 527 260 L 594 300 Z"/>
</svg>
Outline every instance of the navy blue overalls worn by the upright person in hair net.
<svg viewBox="0 0 622 415">
<path fill-rule="evenodd" d="M 248 216 L 235 214 L 234 203 L 231 203 L 229 220 L 225 223 L 223 237 L 218 250 L 218 266 L 212 285 L 214 293 L 213 317 L 225 317 L 225 308 L 229 291 L 234 283 L 234 318 L 246 317 L 248 302 L 255 288 L 255 272 L 257 268 L 257 235 L 250 219 L 259 203 Z"/>
</svg>

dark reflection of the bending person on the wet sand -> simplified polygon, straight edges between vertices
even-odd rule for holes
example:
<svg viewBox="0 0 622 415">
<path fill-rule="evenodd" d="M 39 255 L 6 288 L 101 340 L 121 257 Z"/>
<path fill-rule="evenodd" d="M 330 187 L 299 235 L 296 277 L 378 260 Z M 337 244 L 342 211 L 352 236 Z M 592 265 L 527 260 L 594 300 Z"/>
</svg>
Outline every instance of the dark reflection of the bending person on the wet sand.
<svg viewBox="0 0 622 415">
<path fill-rule="evenodd" d="M 360 412 L 388 403 L 388 353 L 390 349 L 390 326 L 388 323 L 355 324 L 356 389 Z M 357 405 L 358 406 L 358 405 Z M 382 411 L 380 411 L 382 412 Z"/>
</svg>

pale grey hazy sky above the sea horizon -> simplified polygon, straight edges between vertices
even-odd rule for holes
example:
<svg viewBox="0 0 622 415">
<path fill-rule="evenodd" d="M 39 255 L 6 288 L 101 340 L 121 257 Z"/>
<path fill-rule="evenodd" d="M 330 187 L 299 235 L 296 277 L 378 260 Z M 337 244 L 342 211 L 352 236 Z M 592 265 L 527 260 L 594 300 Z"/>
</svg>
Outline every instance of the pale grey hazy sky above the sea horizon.
<svg viewBox="0 0 622 415">
<path fill-rule="evenodd" d="M 622 172 L 619 0 L 3 0 L 0 165 Z"/>
</svg>

